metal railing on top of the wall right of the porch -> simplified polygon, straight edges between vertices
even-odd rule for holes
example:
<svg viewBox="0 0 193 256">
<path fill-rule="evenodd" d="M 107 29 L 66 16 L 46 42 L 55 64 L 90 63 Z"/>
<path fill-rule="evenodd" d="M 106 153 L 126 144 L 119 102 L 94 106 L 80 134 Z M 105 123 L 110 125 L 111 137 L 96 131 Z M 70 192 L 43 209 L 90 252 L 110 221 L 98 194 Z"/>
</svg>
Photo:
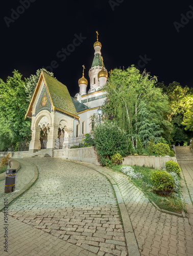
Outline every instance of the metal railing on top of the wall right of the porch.
<svg viewBox="0 0 193 256">
<path fill-rule="evenodd" d="M 93 136 L 90 134 L 91 138 Z M 79 146 L 79 144 L 82 142 L 82 140 L 85 139 L 85 134 L 80 135 L 77 137 L 66 137 L 66 138 L 59 138 L 55 140 L 55 148 L 57 150 L 70 148 L 71 146 Z"/>
</svg>

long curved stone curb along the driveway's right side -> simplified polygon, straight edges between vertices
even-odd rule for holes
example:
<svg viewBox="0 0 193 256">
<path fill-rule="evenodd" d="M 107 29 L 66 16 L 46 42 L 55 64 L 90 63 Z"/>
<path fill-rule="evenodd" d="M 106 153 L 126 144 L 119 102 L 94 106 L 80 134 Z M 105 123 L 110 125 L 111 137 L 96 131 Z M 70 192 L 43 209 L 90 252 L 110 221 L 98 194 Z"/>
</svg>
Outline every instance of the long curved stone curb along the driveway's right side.
<svg viewBox="0 0 193 256">
<path fill-rule="evenodd" d="M 84 163 L 80 163 L 80 162 L 77 162 L 75 160 L 68 160 L 68 161 L 72 161 L 72 162 L 75 162 L 77 164 L 88 167 L 90 169 L 96 170 L 96 172 L 99 172 L 100 174 L 107 177 L 107 179 L 112 184 L 112 187 L 114 189 L 114 192 L 115 192 L 115 195 L 116 195 L 116 198 L 117 198 L 118 207 L 119 207 L 119 210 L 120 210 L 120 215 L 121 215 L 122 221 L 123 221 L 123 226 L 124 226 L 124 231 L 125 231 L 125 239 L 126 239 L 126 243 L 127 243 L 127 250 L 128 250 L 129 256 L 140 256 L 137 240 L 135 238 L 135 233 L 133 231 L 133 226 L 131 224 L 131 220 L 130 220 L 126 205 L 123 201 L 122 195 L 120 194 L 119 188 L 116 185 L 115 181 L 112 179 L 112 177 L 107 175 L 107 174 L 104 174 L 103 172 L 101 172 L 101 170 L 98 170 L 97 167 L 88 166 Z"/>
</svg>

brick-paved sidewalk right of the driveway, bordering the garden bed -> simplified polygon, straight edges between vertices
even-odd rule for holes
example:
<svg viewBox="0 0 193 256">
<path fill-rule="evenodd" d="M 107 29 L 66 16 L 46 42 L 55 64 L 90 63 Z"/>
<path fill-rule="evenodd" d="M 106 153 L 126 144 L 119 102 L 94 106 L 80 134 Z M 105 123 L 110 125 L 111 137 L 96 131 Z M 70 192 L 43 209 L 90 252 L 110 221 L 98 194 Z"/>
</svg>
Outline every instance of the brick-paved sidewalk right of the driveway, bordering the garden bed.
<svg viewBox="0 0 193 256">
<path fill-rule="evenodd" d="M 98 167 L 117 183 L 126 204 L 141 255 L 192 256 L 193 226 L 187 218 L 165 214 L 155 208 L 128 178 Z"/>
</svg>

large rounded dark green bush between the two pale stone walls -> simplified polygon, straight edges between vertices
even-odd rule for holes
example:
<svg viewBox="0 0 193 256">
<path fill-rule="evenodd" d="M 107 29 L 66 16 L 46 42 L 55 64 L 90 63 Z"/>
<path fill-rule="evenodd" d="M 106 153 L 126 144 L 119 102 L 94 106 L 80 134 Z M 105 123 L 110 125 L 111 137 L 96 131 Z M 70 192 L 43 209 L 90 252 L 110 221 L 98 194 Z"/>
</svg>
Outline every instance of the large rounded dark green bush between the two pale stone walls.
<svg viewBox="0 0 193 256">
<path fill-rule="evenodd" d="M 115 122 L 104 122 L 94 127 L 94 144 L 104 163 L 105 158 L 111 159 L 115 153 L 123 157 L 128 155 L 128 137 L 125 131 L 120 129 Z"/>
</svg>

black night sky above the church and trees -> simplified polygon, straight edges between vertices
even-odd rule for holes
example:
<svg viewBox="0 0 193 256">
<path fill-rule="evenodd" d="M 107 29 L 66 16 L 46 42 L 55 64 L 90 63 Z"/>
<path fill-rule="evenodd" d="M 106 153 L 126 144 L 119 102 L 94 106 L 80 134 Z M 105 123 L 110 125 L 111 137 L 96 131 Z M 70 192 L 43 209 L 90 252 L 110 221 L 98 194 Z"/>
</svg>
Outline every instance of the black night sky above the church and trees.
<svg viewBox="0 0 193 256">
<path fill-rule="evenodd" d="M 2 4 L 0 24 L 4 80 L 14 69 L 29 77 L 54 63 L 55 77 L 74 96 L 83 64 L 89 79 L 98 30 L 108 71 L 134 64 L 165 84 L 193 87 L 193 1 L 14 0 Z"/>
</svg>

